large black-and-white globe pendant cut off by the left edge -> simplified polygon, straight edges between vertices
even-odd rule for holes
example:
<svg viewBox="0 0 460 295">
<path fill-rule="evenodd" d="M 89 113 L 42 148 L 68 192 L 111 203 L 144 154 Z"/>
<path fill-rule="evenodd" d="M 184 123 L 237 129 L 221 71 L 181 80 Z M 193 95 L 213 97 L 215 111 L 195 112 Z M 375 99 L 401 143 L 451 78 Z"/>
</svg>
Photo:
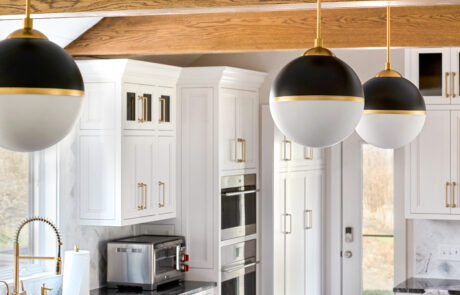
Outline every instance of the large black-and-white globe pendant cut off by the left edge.
<svg viewBox="0 0 460 295">
<path fill-rule="evenodd" d="M 72 57 L 32 27 L 27 0 L 24 28 L 0 42 L 0 146 L 24 152 L 64 138 L 84 95 Z"/>
</svg>

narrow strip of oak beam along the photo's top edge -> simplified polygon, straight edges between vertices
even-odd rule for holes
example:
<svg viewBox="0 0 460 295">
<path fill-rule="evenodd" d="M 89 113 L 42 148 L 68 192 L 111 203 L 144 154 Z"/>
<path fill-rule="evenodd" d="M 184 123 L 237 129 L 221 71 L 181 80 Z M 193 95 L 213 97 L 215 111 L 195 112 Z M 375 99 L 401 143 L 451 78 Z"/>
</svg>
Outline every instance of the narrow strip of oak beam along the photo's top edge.
<svg viewBox="0 0 460 295">
<path fill-rule="evenodd" d="M 323 0 L 325 9 L 454 5 L 460 0 Z M 24 14 L 25 0 L 0 0 L 0 19 Z M 262 12 L 314 9 L 316 0 L 33 0 L 35 18 Z"/>
</svg>

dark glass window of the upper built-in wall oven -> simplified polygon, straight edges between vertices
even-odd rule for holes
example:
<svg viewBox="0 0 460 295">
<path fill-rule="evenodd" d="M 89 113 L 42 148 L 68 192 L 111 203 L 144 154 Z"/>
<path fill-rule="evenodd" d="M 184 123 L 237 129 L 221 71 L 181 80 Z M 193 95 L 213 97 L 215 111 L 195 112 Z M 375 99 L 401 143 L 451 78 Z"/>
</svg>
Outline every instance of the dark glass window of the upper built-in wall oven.
<svg viewBox="0 0 460 295">
<path fill-rule="evenodd" d="M 222 196 L 222 229 L 256 223 L 256 193 Z"/>
</svg>

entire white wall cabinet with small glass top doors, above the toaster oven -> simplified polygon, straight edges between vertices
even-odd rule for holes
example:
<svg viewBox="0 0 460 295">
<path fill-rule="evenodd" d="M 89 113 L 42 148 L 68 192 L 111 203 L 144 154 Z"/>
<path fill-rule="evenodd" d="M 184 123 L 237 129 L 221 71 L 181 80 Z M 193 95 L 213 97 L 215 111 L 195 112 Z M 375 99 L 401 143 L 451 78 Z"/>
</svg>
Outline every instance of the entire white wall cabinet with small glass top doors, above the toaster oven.
<svg viewBox="0 0 460 295">
<path fill-rule="evenodd" d="M 78 65 L 87 96 L 77 125 L 81 224 L 174 218 L 180 68 L 126 59 Z"/>
</svg>

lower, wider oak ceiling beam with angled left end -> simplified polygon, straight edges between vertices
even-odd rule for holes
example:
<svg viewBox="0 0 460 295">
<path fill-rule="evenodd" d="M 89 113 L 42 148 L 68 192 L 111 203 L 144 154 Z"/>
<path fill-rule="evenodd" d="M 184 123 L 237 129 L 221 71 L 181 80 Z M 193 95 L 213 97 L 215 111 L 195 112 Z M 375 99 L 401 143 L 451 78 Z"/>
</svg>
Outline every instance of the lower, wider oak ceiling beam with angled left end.
<svg viewBox="0 0 460 295">
<path fill-rule="evenodd" d="M 323 12 L 329 48 L 385 46 L 385 9 Z M 66 49 L 74 56 L 130 56 L 306 49 L 314 11 L 106 18 Z M 460 46 L 460 5 L 392 9 L 393 46 Z"/>
</svg>

